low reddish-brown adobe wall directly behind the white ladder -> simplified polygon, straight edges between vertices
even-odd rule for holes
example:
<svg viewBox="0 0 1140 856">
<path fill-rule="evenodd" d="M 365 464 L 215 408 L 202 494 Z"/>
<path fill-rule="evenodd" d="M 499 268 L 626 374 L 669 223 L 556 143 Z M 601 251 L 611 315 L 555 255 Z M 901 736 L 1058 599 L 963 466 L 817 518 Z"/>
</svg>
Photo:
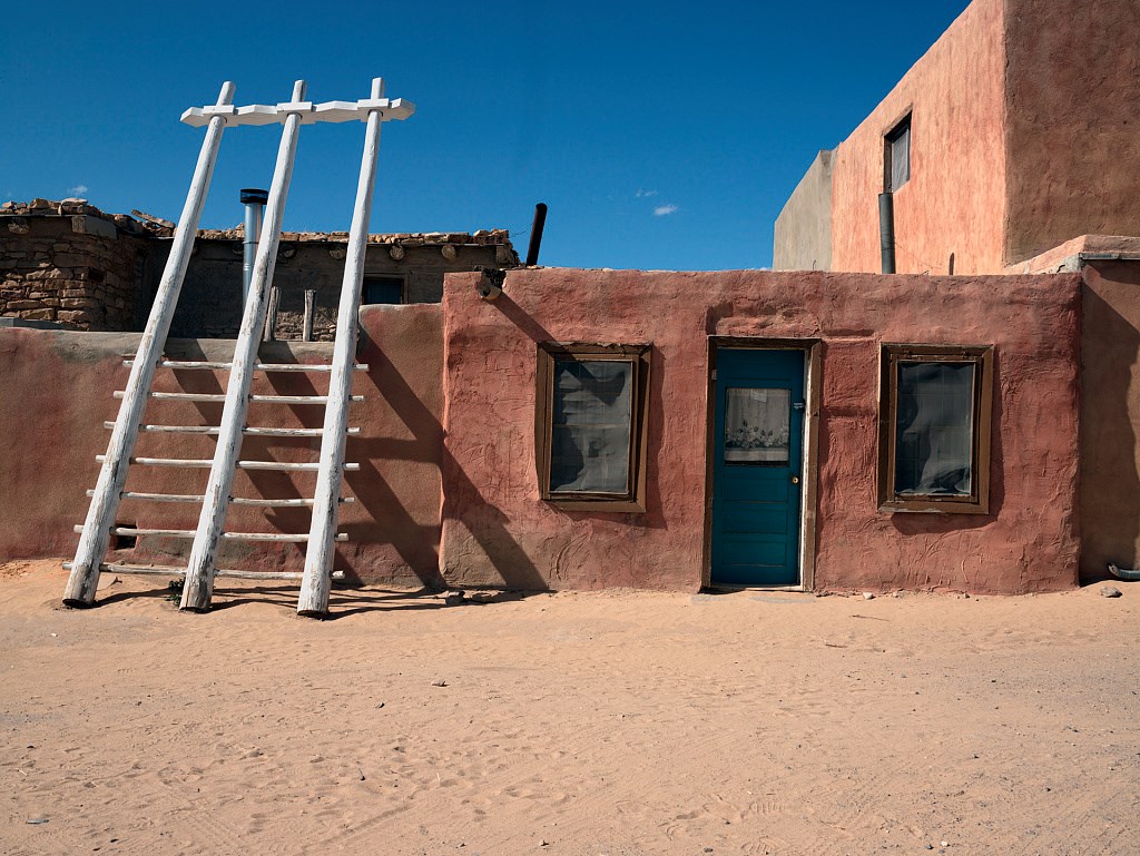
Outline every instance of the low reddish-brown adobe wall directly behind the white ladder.
<svg viewBox="0 0 1140 856">
<path fill-rule="evenodd" d="M 335 566 L 373 581 L 439 582 L 441 483 L 442 317 L 432 304 L 361 309 L 360 360 L 370 370 L 358 374 L 355 392 L 366 401 L 351 406 L 347 459 L 359 472 L 347 473 L 345 494 L 355 504 L 341 506 Z M 0 329 L 0 561 L 33 556 L 71 556 L 79 536 L 74 523 L 87 514 L 84 490 L 95 486 L 98 464 L 128 369 L 122 356 L 137 347 L 137 334 Z M 168 353 L 181 359 L 228 359 L 233 342 L 173 340 Z M 263 349 L 279 361 L 327 362 L 331 345 L 278 343 Z M 161 391 L 221 392 L 221 373 L 160 369 Z M 254 392 L 319 394 L 327 375 L 259 376 Z M 147 419 L 163 424 L 218 424 L 220 403 L 154 401 Z M 251 425 L 319 427 L 320 407 L 253 403 Z M 137 455 L 210 458 L 214 440 L 201 435 L 141 434 Z M 316 460 L 317 439 L 246 438 L 243 457 Z M 128 489 L 201 494 L 205 470 L 132 467 Z M 235 496 L 311 497 L 315 475 L 239 472 Z M 194 529 L 198 506 L 124 500 L 117 520 L 148 528 Z M 233 507 L 228 531 L 307 532 L 307 509 Z M 117 557 L 131 563 L 184 564 L 189 541 L 147 537 Z M 301 570 L 301 545 L 223 543 L 221 566 Z"/>
</svg>

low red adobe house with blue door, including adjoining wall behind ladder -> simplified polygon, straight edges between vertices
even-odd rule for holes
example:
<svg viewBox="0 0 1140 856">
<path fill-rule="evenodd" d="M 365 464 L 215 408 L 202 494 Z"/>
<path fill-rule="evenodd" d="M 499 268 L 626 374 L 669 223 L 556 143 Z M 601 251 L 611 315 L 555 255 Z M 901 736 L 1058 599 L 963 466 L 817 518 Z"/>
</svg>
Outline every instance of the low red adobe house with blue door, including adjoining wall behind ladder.
<svg viewBox="0 0 1140 856">
<path fill-rule="evenodd" d="M 360 467 L 345 474 L 356 502 L 341 512 L 349 539 L 335 568 L 366 582 L 523 589 L 1072 587 L 1078 285 L 1074 274 L 549 268 L 507 271 L 490 300 L 484 275 L 449 274 L 441 303 L 360 310 L 368 370 L 347 453 Z M 0 555 L 74 549 L 106 446 L 99 426 L 114 417 L 137 343 L 0 329 Z M 262 358 L 319 362 L 331 347 L 270 342 Z M 166 354 L 231 350 L 171 340 Z M 253 393 L 321 392 L 304 374 L 272 377 Z M 223 372 L 168 369 L 156 390 L 225 382 Z M 221 405 L 148 408 L 147 421 L 209 425 Z M 253 408 L 251 424 L 315 424 L 301 407 Z M 899 414 L 907 431 L 885 427 Z M 245 443 L 243 457 L 304 462 L 318 440 Z M 137 454 L 194 459 L 213 445 L 144 434 Z M 177 467 L 131 473 L 138 492 L 195 494 L 204 480 Z M 311 479 L 243 471 L 234 495 L 311 496 Z M 116 522 L 193 529 L 197 507 L 158 514 L 124 499 Z M 303 532 L 307 521 L 306 508 L 234 507 L 227 530 Z M 115 561 L 158 565 L 187 549 L 162 536 L 117 546 Z M 220 561 L 298 571 L 303 553 L 230 543 Z"/>
</svg>

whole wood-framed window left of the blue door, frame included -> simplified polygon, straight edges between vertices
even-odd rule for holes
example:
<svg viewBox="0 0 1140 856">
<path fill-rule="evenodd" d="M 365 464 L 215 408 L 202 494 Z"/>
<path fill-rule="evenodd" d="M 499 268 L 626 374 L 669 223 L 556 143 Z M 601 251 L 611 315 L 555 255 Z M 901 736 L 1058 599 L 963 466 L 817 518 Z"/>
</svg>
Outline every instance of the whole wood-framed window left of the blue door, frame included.
<svg viewBox="0 0 1140 856">
<path fill-rule="evenodd" d="M 648 345 L 539 345 L 535 447 L 543 499 L 641 509 L 648 383 Z"/>
</svg>

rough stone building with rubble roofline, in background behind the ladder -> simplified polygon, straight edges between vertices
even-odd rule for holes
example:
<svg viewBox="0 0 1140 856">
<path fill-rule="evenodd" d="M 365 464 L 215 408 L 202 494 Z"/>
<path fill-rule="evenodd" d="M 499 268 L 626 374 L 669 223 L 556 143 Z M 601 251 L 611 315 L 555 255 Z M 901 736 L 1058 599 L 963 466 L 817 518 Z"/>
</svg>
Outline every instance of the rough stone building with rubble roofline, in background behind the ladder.
<svg viewBox="0 0 1140 856">
<path fill-rule="evenodd" d="M 0 205 L 0 318 L 64 329 L 142 329 L 174 225 L 135 214 L 109 214 L 85 199 Z M 302 339 L 306 292 L 312 292 L 312 340 L 332 340 L 348 237 L 344 231 L 282 235 L 275 339 Z M 237 335 L 243 242 L 242 228 L 198 233 L 171 335 Z M 502 229 L 369 235 L 363 301 L 438 303 L 445 274 L 518 264 Z"/>
</svg>

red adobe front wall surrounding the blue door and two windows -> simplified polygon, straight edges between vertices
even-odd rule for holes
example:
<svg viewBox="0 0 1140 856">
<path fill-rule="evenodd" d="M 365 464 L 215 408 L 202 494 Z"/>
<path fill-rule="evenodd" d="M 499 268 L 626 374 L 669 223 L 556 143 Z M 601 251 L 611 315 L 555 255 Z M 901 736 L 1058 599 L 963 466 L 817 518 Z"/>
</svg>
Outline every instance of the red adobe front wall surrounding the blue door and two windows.
<svg viewBox="0 0 1140 856">
<path fill-rule="evenodd" d="M 694 590 L 708 336 L 821 337 L 816 588 L 1033 592 L 1076 582 L 1078 278 L 515 270 L 450 275 L 442 566 L 454 585 Z M 648 509 L 538 497 L 536 342 L 652 342 Z M 996 345 L 992 513 L 882 514 L 883 341 Z"/>
</svg>

